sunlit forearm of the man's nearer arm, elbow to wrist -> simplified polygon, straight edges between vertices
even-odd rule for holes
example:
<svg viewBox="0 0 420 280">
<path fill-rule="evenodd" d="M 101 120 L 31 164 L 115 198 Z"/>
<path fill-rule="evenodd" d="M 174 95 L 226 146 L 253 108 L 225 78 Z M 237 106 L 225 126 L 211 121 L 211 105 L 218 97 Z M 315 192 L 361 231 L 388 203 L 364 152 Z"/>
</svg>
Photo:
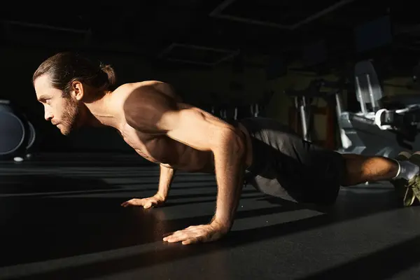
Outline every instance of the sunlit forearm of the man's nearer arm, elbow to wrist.
<svg viewBox="0 0 420 280">
<path fill-rule="evenodd" d="M 245 151 L 236 136 L 228 137 L 223 143 L 221 148 L 214 151 L 218 194 L 213 222 L 230 229 L 244 184 Z"/>
</svg>

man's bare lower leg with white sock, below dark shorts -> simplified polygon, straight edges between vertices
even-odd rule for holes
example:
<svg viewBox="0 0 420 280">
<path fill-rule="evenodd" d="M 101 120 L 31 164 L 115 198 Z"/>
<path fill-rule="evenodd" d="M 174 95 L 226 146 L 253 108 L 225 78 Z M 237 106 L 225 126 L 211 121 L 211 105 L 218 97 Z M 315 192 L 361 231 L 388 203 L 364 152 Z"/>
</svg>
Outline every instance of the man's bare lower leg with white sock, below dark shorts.
<svg viewBox="0 0 420 280">
<path fill-rule="evenodd" d="M 345 161 L 342 186 L 353 186 L 367 181 L 411 180 L 419 174 L 419 166 L 408 160 L 343 154 Z"/>
</svg>

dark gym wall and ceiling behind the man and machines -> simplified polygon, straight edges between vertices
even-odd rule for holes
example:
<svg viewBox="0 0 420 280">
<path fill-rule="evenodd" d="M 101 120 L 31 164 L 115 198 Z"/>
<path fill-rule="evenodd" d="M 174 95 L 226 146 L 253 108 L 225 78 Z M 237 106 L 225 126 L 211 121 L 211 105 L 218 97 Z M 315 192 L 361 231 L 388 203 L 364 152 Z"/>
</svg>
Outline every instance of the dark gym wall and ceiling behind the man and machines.
<svg viewBox="0 0 420 280">
<path fill-rule="evenodd" d="M 303 89 L 314 78 L 352 79 L 362 59 L 374 60 L 384 94 L 412 91 L 420 35 L 413 3 L 162 0 L 137 2 L 138 8 L 125 1 L 72 1 L 75 10 L 3 7 L 0 94 L 27 113 L 39 131 L 37 148 L 45 152 L 132 153 L 113 131 L 62 137 L 43 120 L 31 74 L 62 50 L 111 64 L 119 84 L 163 80 L 204 109 L 246 106 L 248 113 L 248 105 L 259 102 L 266 116 L 290 123 L 293 102 L 284 90 Z M 316 116 L 315 130 L 323 141 L 325 116 Z"/>
</svg>

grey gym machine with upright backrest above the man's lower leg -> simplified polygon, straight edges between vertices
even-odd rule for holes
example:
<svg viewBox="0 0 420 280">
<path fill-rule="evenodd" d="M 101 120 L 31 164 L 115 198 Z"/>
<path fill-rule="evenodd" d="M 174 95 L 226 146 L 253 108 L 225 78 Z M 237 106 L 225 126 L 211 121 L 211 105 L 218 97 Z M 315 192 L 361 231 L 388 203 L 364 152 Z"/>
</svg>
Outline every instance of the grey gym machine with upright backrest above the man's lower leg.
<svg viewBox="0 0 420 280">
<path fill-rule="evenodd" d="M 344 131 L 339 152 L 393 158 L 400 151 L 419 151 L 420 95 L 384 96 L 370 60 L 355 65 L 354 82 L 360 111 L 341 111 L 338 104 L 339 126 Z"/>
</svg>

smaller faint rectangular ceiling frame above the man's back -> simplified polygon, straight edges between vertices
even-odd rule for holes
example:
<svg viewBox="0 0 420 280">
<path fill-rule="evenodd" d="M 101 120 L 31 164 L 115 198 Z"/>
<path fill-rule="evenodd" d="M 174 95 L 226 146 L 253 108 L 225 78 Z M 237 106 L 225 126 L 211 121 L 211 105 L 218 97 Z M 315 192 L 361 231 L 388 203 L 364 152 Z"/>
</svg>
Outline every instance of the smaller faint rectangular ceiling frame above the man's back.
<svg viewBox="0 0 420 280">
<path fill-rule="evenodd" d="M 216 62 L 200 62 L 200 61 L 189 60 L 189 59 L 177 59 L 177 58 L 165 57 L 165 55 L 167 53 L 169 53 L 172 49 L 174 49 L 176 47 L 190 48 L 190 49 L 195 49 L 195 50 L 211 50 L 211 51 L 214 51 L 214 52 L 225 52 L 227 55 L 225 55 L 225 57 L 222 57 L 221 59 L 218 59 Z M 172 62 L 183 62 L 183 63 L 188 63 L 188 64 L 203 65 L 203 66 L 215 66 L 216 64 L 219 64 L 219 63 L 221 63 L 221 62 L 223 62 L 227 59 L 230 59 L 231 57 L 235 57 L 235 55 L 238 55 L 238 54 L 239 54 L 239 50 L 234 51 L 234 50 L 226 50 L 226 49 L 220 49 L 220 48 L 211 48 L 211 47 L 206 47 L 206 46 L 203 46 L 203 45 L 190 45 L 190 44 L 185 44 L 185 43 L 172 43 L 167 48 L 165 48 L 165 50 L 160 52 L 158 57 L 161 58 L 161 59 L 165 59 L 167 61 L 172 61 Z"/>
</svg>

